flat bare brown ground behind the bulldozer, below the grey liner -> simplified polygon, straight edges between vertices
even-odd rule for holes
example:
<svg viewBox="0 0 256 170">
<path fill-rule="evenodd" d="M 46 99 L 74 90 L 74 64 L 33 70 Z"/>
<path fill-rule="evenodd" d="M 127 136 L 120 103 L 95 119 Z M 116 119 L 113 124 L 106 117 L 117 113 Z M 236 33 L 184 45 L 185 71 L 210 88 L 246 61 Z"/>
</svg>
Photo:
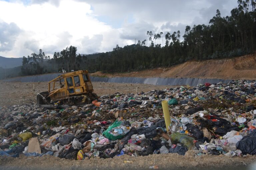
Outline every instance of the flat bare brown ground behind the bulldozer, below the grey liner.
<svg viewBox="0 0 256 170">
<path fill-rule="evenodd" d="M 149 84 L 125 84 L 125 83 L 103 83 L 93 82 L 94 92 L 98 95 L 109 95 L 119 93 L 147 92 L 150 90 L 161 90 L 170 86 L 155 86 Z M 47 91 L 48 82 L 1 82 L 0 81 L 0 106 L 20 105 L 35 103 L 36 94 Z"/>
</svg>

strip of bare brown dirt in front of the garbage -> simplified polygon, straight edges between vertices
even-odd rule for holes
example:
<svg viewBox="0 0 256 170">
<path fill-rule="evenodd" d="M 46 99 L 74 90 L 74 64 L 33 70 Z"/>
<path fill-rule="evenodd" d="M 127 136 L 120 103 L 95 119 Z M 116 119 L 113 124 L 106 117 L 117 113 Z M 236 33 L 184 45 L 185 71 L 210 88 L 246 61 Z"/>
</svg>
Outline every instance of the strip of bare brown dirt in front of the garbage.
<svg viewBox="0 0 256 170">
<path fill-rule="evenodd" d="M 256 156 L 245 158 L 229 158 L 225 155 L 205 155 L 200 157 L 186 157 L 178 154 L 153 154 L 148 156 L 132 157 L 129 155 L 115 156 L 114 158 L 91 158 L 85 160 L 67 160 L 53 156 L 19 158 L 0 157 L 0 169 L 30 170 L 30 169 L 120 169 L 120 170 L 143 170 L 154 167 L 155 169 L 168 170 L 255 170 Z M 247 166 L 246 166 L 247 165 Z M 153 169 L 153 168 L 152 168 Z"/>
</svg>

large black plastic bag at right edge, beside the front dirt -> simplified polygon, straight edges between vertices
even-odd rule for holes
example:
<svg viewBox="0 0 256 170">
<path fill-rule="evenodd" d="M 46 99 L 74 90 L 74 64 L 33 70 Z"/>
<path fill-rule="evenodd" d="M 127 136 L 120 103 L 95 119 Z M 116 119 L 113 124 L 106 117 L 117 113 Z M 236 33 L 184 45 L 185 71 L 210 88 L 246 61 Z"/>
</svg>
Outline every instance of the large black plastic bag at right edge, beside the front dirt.
<svg viewBox="0 0 256 170">
<path fill-rule="evenodd" d="M 236 148 L 240 149 L 244 155 L 256 155 L 256 129 L 254 129 L 249 135 L 244 136 L 242 140 L 238 141 Z"/>
</svg>

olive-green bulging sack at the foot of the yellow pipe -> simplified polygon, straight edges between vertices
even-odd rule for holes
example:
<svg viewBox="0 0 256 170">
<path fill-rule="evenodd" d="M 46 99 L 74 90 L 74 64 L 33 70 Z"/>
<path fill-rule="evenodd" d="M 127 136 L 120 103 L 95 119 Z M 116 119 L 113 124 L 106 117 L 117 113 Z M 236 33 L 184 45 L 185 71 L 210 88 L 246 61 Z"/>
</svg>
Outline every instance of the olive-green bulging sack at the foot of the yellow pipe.
<svg viewBox="0 0 256 170">
<path fill-rule="evenodd" d="M 173 144 L 181 143 L 188 150 L 194 146 L 194 138 L 184 133 L 173 132 L 170 137 Z"/>
</svg>

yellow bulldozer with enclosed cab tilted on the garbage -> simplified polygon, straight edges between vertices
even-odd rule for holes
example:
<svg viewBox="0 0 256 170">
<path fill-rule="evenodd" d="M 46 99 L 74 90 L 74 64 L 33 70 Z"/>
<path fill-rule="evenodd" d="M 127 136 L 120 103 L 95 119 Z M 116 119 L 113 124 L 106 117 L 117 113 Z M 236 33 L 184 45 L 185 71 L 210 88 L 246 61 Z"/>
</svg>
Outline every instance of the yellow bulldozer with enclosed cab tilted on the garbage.
<svg viewBox="0 0 256 170">
<path fill-rule="evenodd" d="M 97 98 L 87 70 L 59 75 L 48 82 L 48 91 L 36 95 L 37 107 L 43 108 L 82 106 Z"/>
</svg>

